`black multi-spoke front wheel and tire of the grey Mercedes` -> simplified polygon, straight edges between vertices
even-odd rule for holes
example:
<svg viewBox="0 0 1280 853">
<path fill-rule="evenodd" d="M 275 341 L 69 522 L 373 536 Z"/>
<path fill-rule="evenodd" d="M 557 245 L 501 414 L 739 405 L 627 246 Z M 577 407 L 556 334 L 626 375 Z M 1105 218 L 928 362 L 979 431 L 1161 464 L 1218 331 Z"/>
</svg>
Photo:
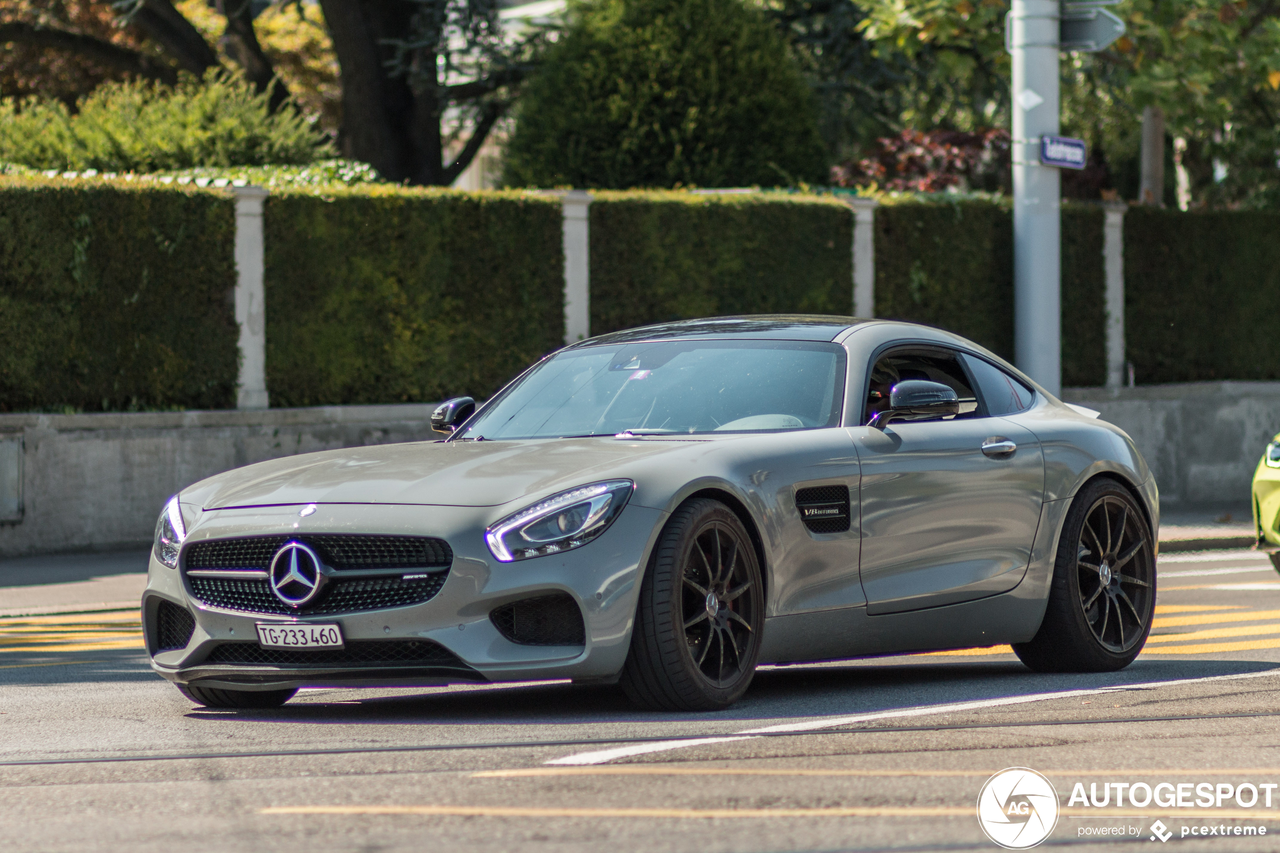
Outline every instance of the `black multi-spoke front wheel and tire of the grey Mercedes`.
<svg viewBox="0 0 1280 853">
<path fill-rule="evenodd" d="M 764 584 L 746 528 L 724 504 L 690 500 L 649 559 L 622 689 L 650 710 L 727 708 L 751 683 L 763 627 Z"/>
</svg>

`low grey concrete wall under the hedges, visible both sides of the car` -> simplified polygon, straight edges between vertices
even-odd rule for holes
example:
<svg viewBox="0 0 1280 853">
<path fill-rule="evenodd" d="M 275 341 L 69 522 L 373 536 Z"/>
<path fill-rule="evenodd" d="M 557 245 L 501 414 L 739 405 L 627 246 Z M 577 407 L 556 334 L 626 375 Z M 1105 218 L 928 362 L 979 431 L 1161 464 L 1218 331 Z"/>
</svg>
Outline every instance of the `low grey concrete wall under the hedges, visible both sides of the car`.
<svg viewBox="0 0 1280 853">
<path fill-rule="evenodd" d="M 1280 382 L 1064 396 L 1133 436 L 1169 506 L 1247 504 L 1253 468 L 1280 431 Z M 161 505 L 183 486 L 276 457 L 433 440 L 433 408 L 0 414 L 0 558 L 145 545 Z"/>
</svg>

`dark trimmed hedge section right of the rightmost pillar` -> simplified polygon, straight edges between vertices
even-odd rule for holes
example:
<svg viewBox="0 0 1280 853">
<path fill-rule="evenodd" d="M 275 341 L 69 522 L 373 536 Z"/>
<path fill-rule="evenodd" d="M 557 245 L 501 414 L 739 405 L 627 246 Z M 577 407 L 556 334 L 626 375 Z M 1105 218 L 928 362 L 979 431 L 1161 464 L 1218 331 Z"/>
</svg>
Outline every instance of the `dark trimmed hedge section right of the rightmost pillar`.
<svg viewBox="0 0 1280 853">
<path fill-rule="evenodd" d="M 1125 348 L 1139 384 L 1280 379 L 1280 214 L 1125 215 Z"/>
</svg>

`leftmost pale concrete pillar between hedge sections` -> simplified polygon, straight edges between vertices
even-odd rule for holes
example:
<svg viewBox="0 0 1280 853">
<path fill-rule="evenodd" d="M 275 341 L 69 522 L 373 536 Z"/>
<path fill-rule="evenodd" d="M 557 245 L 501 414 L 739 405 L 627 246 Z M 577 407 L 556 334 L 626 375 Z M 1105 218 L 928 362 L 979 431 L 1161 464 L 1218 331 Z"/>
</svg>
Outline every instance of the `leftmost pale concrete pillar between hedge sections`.
<svg viewBox="0 0 1280 853">
<path fill-rule="evenodd" d="M 236 193 L 236 324 L 239 326 L 239 380 L 236 408 L 265 409 L 266 304 L 262 297 L 262 200 L 268 192 L 238 187 Z"/>
</svg>

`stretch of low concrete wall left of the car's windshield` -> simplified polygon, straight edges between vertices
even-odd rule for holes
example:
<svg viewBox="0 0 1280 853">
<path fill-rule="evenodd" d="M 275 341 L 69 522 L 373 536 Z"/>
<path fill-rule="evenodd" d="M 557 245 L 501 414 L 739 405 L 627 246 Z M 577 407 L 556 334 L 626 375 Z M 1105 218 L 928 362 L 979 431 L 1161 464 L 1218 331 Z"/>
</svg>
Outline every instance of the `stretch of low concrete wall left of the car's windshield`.
<svg viewBox="0 0 1280 853">
<path fill-rule="evenodd" d="M 0 414 L 10 450 L 0 486 L 20 482 L 17 513 L 0 500 L 0 556 L 145 546 L 164 501 L 197 480 L 314 450 L 434 440 L 433 408 Z"/>
</svg>

